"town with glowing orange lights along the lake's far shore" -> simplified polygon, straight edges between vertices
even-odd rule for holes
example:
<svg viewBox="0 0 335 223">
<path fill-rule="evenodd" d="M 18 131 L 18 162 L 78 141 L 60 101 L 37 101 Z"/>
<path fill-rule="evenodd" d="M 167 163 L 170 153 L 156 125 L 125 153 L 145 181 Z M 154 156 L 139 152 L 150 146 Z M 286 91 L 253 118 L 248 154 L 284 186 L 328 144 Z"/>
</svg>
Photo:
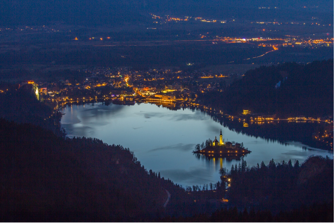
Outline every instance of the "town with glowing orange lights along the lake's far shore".
<svg viewBox="0 0 335 223">
<path fill-rule="evenodd" d="M 314 140 L 314 143 L 311 146 L 333 149 L 333 117 L 331 116 L 309 115 L 300 112 L 297 114 L 266 114 L 255 111 L 255 108 L 247 109 L 245 107 L 248 106 L 245 104 L 241 104 L 239 110 L 228 111 L 228 113 L 227 104 L 217 103 L 219 101 L 217 94 L 224 94 L 232 90 L 229 85 L 242 80 L 245 71 L 233 65 L 227 65 L 227 68 L 228 70 L 236 69 L 236 73 L 232 73 L 233 70 L 227 73 L 228 71 L 223 72 L 222 70 L 204 72 L 175 68 L 91 67 L 63 74 L 56 80 L 37 78 L 22 81 L 16 85 L 0 84 L 0 94 L 30 86 L 31 92 L 36 94 L 41 101 L 53 107 L 55 113 L 60 112 L 59 108 L 68 104 L 94 102 L 104 102 L 106 105 L 110 103 L 120 105 L 152 103 L 173 110 L 190 107 L 209 114 L 217 121 L 225 120 L 225 123 L 236 123 L 238 128 L 244 129 L 243 131 L 269 124 L 274 126 L 278 123 L 280 125 L 315 123 L 320 124 L 324 129 L 313 130 L 314 133 L 310 138 Z M 252 66 L 246 68 L 252 68 Z M 285 77 L 284 82 L 287 81 Z M 280 86 L 278 83 L 281 82 L 277 82 L 271 88 L 275 91 L 281 89 L 283 85 Z M 209 103 L 208 98 L 216 102 Z M 316 143 L 318 145 L 314 145 Z"/>
</svg>

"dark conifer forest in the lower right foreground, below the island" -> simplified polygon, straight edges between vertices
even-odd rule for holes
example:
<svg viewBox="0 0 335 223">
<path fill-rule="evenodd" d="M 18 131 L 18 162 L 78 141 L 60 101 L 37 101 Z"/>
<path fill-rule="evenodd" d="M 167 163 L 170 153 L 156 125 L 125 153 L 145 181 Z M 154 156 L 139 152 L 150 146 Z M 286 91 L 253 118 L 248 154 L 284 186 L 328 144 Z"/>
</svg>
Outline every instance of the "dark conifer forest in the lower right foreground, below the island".
<svg viewBox="0 0 335 223">
<path fill-rule="evenodd" d="M 270 160 L 249 167 L 241 162 L 230 170 L 220 169 L 229 178 L 229 203 L 213 213 L 198 212 L 192 217 L 166 216 L 163 222 L 332 222 L 334 218 L 334 160 L 310 156 L 300 165 Z M 205 185 L 204 185 L 205 186 Z M 193 188 L 197 188 L 193 186 Z M 214 188 L 222 194 L 224 181 Z M 201 191 L 194 190 L 195 193 Z M 206 191 L 206 188 L 203 189 Z"/>
</svg>

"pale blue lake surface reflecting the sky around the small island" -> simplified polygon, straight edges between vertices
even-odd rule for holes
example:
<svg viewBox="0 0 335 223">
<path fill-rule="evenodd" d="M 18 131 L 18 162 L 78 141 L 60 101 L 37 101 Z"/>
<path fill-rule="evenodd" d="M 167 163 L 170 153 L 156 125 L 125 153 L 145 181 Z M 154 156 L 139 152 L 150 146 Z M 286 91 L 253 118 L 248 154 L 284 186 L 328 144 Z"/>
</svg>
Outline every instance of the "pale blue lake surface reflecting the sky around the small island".
<svg viewBox="0 0 335 223">
<path fill-rule="evenodd" d="M 308 156 L 329 157 L 333 153 L 320 149 L 303 149 L 303 144 L 268 141 L 230 131 L 213 121 L 200 110 L 169 110 L 154 104 L 141 103 L 132 106 L 104 105 L 92 103 L 67 105 L 61 108 L 65 113 L 61 124 L 68 137 L 92 137 L 107 144 L 120 144 L 135 153 L 141 164 L 149 170 L 160 172 L 174 183 L 192 186 L 217 182 L 220 167 L 230 170 L 237 160 L 226 158 L 198 158 L 192 151 L 206 139 L 219 138 L 220 129 L 225 141 L 243 142 L 252 151 L 244 159 L 253 166 L 264 161 L 266 165 L 273 158 L 275 162 L 297 159 L 300 163 Z"/>
</svg>

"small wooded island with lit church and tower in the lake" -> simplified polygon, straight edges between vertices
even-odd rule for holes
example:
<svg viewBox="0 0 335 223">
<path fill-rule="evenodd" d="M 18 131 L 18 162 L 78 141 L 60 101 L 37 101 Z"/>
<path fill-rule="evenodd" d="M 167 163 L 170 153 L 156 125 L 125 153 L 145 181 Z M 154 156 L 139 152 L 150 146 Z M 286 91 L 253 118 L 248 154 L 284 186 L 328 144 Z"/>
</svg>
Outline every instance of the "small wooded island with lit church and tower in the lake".
<svg viewBox="0 0 335 223">
<path fill-rule="evenodd" d="M 248 148 L 244 148 L 243 143 L 237 142 L 224 142 L 222 139 L 222 130 L 220 130 L 220 141 L 215 139 L 213 141 L 206 140 L 206 143 L 197 144 L 195 146 L 195 151 L 193 153 L 200 153 L 212 156 L 243 156 L 245 154 L 251 153 Z"/>
</svg>

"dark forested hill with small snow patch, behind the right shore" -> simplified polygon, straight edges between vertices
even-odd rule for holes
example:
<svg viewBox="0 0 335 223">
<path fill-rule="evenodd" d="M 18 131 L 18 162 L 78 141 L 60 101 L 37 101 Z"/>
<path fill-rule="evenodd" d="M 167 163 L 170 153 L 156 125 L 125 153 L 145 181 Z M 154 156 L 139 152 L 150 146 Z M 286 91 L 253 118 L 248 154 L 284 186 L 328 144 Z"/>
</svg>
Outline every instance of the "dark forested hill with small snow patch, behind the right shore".
<svg viewBox="0 0 335 223">
<path fill-rule="evenodd" d="M 276 114 L 280 118 L 333 116 L 333 67 L 333 59 L 306 65 L 263 66 L 247 71 L 223 92 L 204 93 L 197 99 L 231 115 L 249 109 L 254 114 Z"/>
</svg>

